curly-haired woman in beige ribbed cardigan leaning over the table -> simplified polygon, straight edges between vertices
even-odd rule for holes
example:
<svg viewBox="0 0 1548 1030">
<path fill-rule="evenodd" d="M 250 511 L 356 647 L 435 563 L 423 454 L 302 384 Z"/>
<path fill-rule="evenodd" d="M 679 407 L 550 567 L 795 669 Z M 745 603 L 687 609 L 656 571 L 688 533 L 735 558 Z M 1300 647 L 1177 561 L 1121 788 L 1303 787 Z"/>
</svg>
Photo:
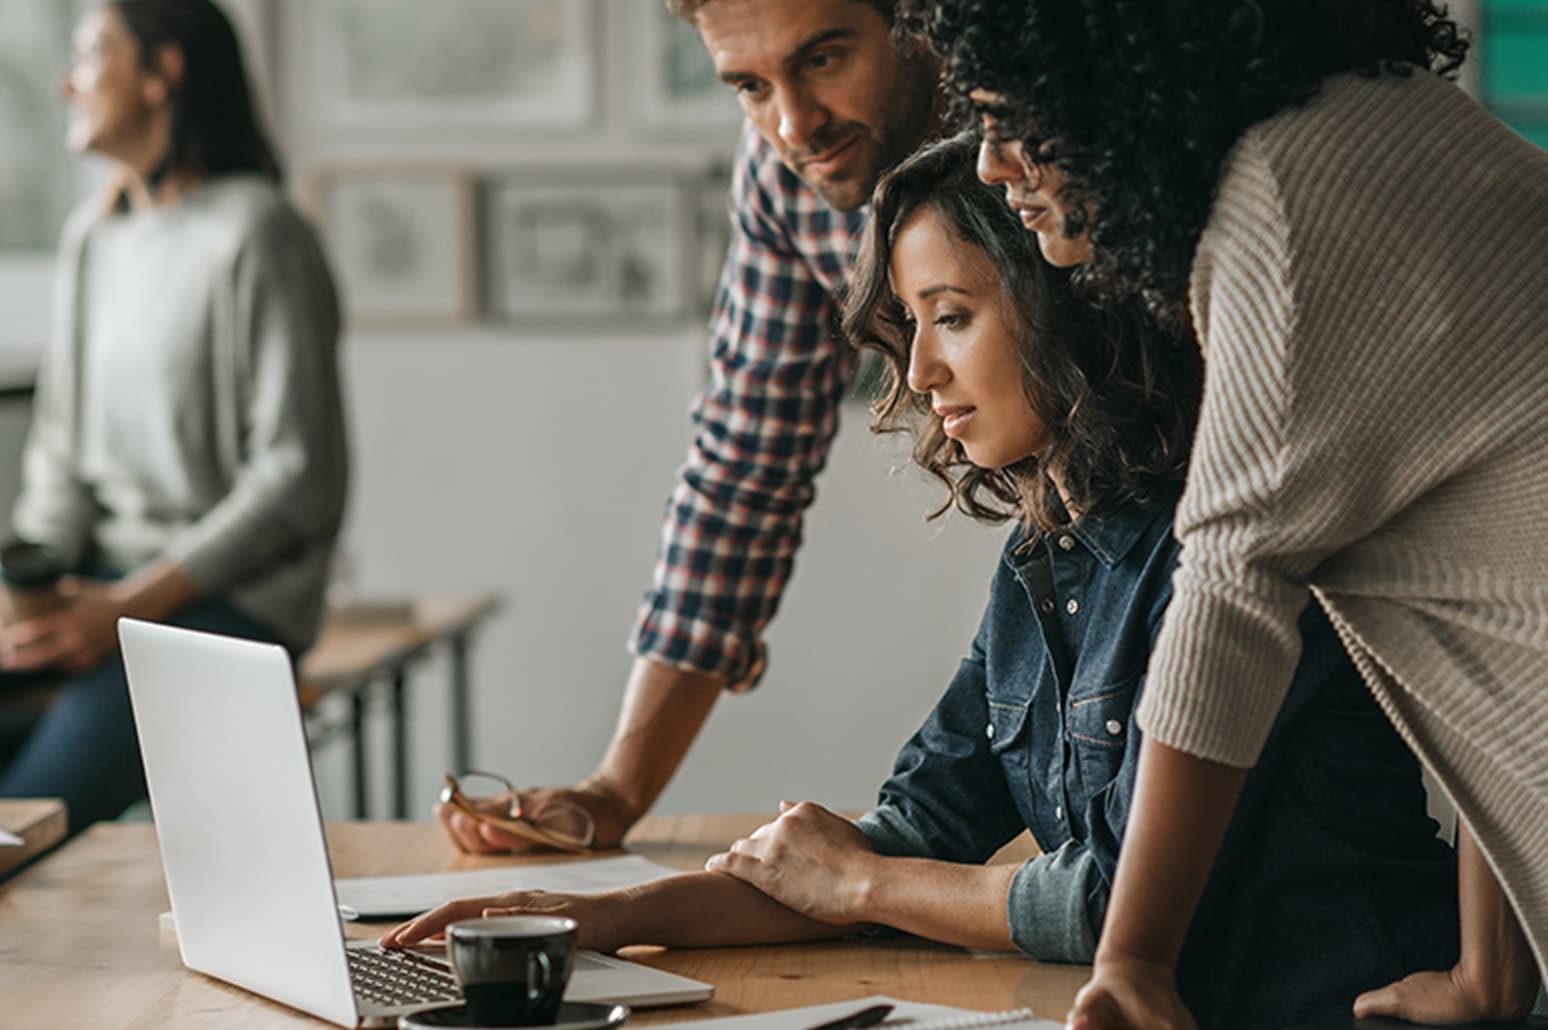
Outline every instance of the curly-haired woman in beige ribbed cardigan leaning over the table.
<svg viewBox="0 0 1548 1030">
<path fill-rule="evenodd" d="M 1427 0 L 909 6 L 1043 252 L 1084 248 L 1091 294 L 1190 324 L 1207 369 L 1074 1025 L 1187 1025 L 1173 970 L 1308 596 L 1461 813 L 1458 963 L 1356 1013 L 1522 1015 L 1548 959 L 1548 155 L 1446 81 L 1466 40 Z"/>
</svg>

